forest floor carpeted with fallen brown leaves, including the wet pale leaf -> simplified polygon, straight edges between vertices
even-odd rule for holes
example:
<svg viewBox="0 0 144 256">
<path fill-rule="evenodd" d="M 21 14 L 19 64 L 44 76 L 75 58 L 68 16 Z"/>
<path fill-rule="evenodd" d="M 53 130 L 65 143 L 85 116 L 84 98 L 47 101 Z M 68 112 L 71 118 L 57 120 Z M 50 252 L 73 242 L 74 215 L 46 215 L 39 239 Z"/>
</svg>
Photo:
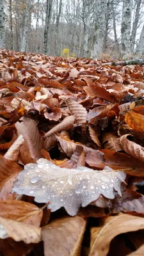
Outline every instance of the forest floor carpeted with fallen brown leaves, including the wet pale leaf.
<svg viewBox="0 0 144 256">
<path fill-rule="evenodd" d="M 144 255 L 144 65 L 0 51 L 0 254 Z"/>
</svg>

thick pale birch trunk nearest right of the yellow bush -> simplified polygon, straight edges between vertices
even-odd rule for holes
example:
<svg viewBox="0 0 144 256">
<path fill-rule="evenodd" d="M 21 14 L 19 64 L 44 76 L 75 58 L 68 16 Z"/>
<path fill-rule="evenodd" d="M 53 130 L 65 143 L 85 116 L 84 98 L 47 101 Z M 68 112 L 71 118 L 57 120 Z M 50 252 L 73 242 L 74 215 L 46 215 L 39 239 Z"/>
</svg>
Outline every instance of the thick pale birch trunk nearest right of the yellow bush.
<svg viewBox="0 0 144 256">
<path fill-rule="evenodd" d="M 106 6 L 107 1 L 97 0 L 97 15 L 95 19 L 95 33 L 92 47 L 92 58 L 102 58 L 104 45 L 104 29 L 106 26 Z"/>
</svg>

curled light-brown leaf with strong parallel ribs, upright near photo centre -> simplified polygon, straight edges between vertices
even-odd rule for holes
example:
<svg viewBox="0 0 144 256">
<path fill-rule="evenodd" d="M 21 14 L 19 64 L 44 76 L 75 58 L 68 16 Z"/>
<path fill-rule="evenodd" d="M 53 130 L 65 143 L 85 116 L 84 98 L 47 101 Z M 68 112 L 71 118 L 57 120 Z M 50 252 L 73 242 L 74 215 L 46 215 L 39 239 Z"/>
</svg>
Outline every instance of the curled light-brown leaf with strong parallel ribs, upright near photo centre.
<svg viewBox="0 0 144 256">
<path fill-rule="evenodd" d="M 78 102 L 67 99 L 66 100 L 67 106 L 70 109 L 71 115 L 76 115 L 76 123 L 77 124 L 84 124 L 86 123 L 86 116 L 87 116 L 87 111 L 86 109 L 79 104 Z"/>
</svg>

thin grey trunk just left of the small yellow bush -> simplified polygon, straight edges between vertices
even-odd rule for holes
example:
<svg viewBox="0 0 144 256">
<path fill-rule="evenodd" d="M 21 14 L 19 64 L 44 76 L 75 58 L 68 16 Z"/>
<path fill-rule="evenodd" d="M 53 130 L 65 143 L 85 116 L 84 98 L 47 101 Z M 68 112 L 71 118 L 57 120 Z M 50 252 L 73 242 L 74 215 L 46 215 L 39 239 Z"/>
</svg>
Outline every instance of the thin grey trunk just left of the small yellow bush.
<svg viewBox="0 0 144 256">
<path fill-rule="evenodd" d="M 57 0 L 57 6 L 58 6 L 58 0 Z M 55 40 L 54 40 L 54 52 L 56 56 L 59 56 L 59 49 L 58 49 L 58 26 L 59 26 L 59 22 L 60 22 L 60 15 L 61 15 L 61 8 L 62 8 L 62 0 L 60 0 L 59 3 L 59 10 L 57 16 L 56 16 L 56 29 L 55 29 Z"/>
</svg>

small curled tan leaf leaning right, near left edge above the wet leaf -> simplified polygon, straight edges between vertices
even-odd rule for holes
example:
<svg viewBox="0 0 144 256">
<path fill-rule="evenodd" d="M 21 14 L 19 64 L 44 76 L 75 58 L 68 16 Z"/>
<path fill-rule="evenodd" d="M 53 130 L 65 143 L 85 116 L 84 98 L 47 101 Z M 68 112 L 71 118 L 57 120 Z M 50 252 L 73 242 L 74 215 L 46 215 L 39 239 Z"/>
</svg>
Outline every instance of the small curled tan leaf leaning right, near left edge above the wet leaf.
<svg viewBox="0 0 144 256">
<path fill-rule="evenodd" d="M 12 161 L 19 160 L 19 150 L 22 144 L 24 143 L 24 138 L 20 135 L 17 140 L 12 144 L 12 146 L 8 149 L 6 154 L 4 154 L 4 158 Z"/>
</svg>

